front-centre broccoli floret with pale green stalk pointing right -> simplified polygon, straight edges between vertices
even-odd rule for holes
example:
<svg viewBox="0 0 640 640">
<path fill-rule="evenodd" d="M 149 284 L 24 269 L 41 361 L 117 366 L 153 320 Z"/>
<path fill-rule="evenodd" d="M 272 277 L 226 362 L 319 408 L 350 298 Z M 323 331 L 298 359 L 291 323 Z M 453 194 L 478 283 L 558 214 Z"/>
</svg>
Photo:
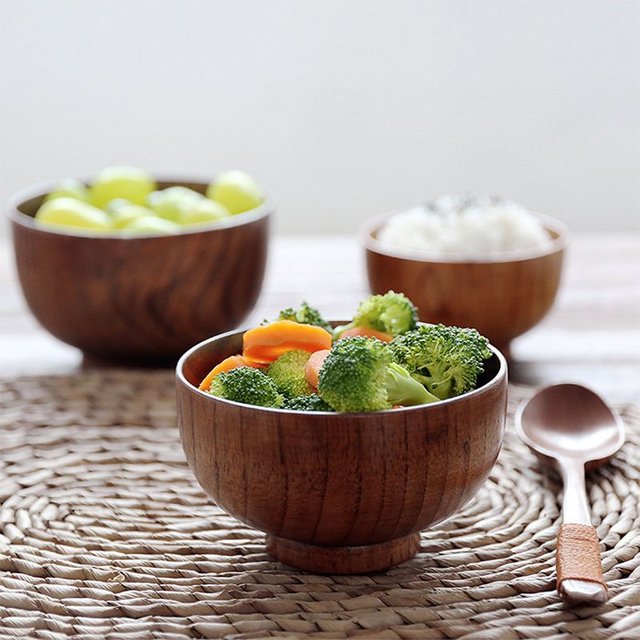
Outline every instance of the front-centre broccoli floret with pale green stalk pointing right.
<svg viewBox="0 0 640 640">
<path fill-rule="evenodd" d="M 380 411 L 393 405 L 434 402 L 400 365 L 389 347 L 376 338 L 343 338 L 329 352 L 318 382 L 318 394 L 341 412 Z"/>
</svg>

